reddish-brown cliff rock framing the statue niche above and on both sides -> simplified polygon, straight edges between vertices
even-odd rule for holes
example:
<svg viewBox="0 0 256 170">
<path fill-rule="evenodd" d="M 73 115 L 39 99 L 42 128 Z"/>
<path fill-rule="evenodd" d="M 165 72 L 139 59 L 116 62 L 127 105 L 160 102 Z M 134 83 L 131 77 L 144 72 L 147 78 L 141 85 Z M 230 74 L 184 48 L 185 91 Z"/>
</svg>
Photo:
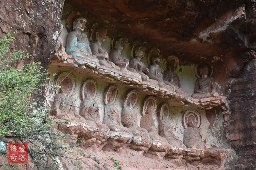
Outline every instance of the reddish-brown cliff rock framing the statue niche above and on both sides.
<svg viewBox="0 0 256 170">
<path fill-rule="evenodd" d="M 48 68 L 62 14 L 67 20 L 70 11 L 81 12 L 88 23 L 106 26 L 109 37 L 121 34 L 130 42 L 147 42 L 147 48 L 156 45 L 164 58 L 177 56 L 180 65 L 211 61 L 213 78 L 229 99 L 230 114 L 224 127 L 239 156 L 236 168 L 256 164 L 254 0 L 66 0 L 65 5 L 64 0 L 2 0 L 0 35 L 17 31 L 12 50 L 27 50 L 32 55 L 17 67 L 37 61 Z M 45 101 L 38 99 L 41 104 Z"/>
</svg>

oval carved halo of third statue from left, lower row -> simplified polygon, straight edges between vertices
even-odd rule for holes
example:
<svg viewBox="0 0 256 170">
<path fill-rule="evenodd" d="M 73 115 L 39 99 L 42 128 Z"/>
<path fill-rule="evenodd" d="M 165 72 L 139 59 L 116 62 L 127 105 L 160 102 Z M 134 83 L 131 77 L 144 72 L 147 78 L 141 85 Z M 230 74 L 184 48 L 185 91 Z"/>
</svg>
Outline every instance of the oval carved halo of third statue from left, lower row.
<svg viewBox="0 0 256 170">
<path fill-rule="evenodd" d="M 118 92 L 118 89 L 117 87 L 114 85 L 114 84 L 109 84 L 106 88 L 105 88 L 105 91 L 104 91 L 104 94 L 103 94 L 103 102 L 104 104 L 113 104 L 116 100 L 116 96 L 117 96 L 117 92 Z M 114 95 L 114 96 L 110 96 L 110 95 Z M 110 100 L 110 101 L 108 101 Z"/>
</svg>

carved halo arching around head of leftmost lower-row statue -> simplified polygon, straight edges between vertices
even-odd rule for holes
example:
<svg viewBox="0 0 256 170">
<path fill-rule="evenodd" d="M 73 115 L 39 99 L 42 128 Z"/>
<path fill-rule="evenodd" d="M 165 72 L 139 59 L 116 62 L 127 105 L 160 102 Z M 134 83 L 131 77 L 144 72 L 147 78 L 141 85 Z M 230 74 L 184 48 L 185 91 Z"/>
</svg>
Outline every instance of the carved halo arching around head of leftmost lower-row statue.
<svg viewBox="0 0 256 170">
<path fill-rule="evenodd" d="M 76 81 L 74 76 L 71 73 L 69 72 L 59 73 L 58 76 L 56 76 L 56 80 L 55 80 L 56 85 L 59 86 L 65 78 L 70 79 L 70 82 L 68 84 L 68 91 L 69 91 L 69 95 L 72 95 L 72 93 L 76 88 Z"/>
</svg>

